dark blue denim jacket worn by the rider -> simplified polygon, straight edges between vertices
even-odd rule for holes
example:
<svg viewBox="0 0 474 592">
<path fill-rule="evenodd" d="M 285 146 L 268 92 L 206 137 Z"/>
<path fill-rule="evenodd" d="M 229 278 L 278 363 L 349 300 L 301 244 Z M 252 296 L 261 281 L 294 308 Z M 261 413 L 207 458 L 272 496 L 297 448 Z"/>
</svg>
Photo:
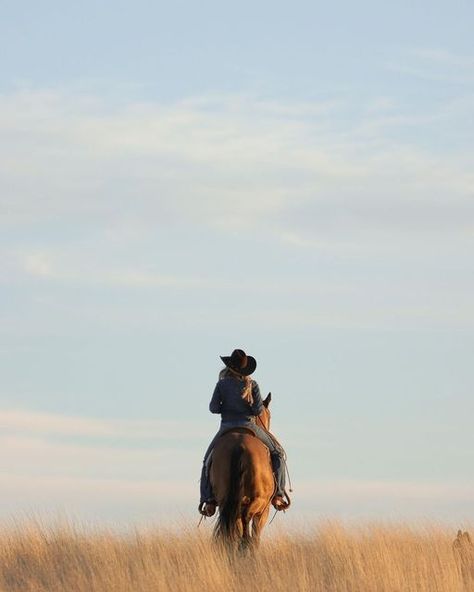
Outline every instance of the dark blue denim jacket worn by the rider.
<svg viewBox="0 0 474 592">
<path fill-rule="evenodd" d="M 252 421 L 263 411 L 260 388 L 255 380 L 252 380 L 253 403 L 250 405 L 242 399 L 244 387 L 244 382 L 236 378 L 227 377 L 219 380 L 209 403 L 209 411 L 220 413 L 223 423 Z"/>
</svg>

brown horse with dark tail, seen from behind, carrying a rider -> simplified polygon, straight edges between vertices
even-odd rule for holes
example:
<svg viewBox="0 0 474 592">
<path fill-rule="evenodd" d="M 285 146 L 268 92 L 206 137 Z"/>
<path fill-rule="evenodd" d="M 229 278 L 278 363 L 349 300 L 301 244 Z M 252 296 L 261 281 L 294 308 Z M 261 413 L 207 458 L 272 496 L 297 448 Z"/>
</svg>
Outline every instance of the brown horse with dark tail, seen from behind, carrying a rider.
<svg viewBox="0 0 474 592">
<path fill-rule="evenodd" d="M 267 430 L 270 401 L 271 393 L 257 417 Z M 257 546 L 275 493 L 268 448 L 250 430 L 232 428 L 215 444 L 210 479 L 219 509 L 216 538 L 241 550 Z"/>
</svg>

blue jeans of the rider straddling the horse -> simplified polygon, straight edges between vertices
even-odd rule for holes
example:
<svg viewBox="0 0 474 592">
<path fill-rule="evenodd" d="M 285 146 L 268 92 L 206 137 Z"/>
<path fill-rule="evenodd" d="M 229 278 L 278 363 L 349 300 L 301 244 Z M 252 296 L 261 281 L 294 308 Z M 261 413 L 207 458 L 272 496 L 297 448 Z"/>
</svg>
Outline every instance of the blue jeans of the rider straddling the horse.
<svg viewBox="0 0 474 592">
<path fill-rule="evenodd" d="M 232 422 L 221 422 L 221 427 L 217 434 L 212 439 L 212 442 L 209 444 L 206 454 L 204 455 L 204 461 L 202 464 L 201 470 L 201 502 L 207 502 L 214 499 L 214 494 L 212 492 L 211 482 L 209 480 L 209 475 L 206 471 L 206 462 L 211 454 L 212 449 L 214 448 L 216 441 L 220 436 L 230 428 L 235 427 L 243 427 L 252 430 L 252 432 L 257 436 L 259 440 L 261 440 L 265 446 L 268 447 L 270 450 L 270 459 L 272 462 L 272 469 L 273 473 L 276 478 L 276 495 L 283 495 L 285 491 L 285 461 L 283 459 L 284 451 L 271 437 L 271 435 L 265 430 L 264 428 L 260 427 L 259 425 L 253 423 L 252 421 L 247 420 L 237 420 Z"/>
</svg>

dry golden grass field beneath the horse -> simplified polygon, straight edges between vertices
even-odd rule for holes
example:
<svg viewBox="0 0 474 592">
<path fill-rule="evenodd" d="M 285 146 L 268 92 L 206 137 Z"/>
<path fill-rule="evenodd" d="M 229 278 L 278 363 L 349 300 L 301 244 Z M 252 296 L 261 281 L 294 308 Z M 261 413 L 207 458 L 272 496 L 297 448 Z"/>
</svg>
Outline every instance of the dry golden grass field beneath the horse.
<svg viewBox="0 0 474 592">
<path fill-rule="evenodd" d="M 72 526 L 4 528 L 2 592 L 382 592 L 474 590 L 474 553 L 442 528 L 269 530 L 254 557 L 229 557 L 205 528 L 91 534 Z"/>
</svg>

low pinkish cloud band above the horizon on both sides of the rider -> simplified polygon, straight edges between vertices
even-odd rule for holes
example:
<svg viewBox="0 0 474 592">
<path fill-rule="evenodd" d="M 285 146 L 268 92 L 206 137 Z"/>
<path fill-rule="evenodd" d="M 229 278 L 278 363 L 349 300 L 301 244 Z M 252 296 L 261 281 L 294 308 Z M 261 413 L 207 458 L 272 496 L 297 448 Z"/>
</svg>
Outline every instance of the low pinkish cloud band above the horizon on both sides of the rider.
<svg viewBox="0 0 474 592">
<path fill-rule="evenodd" d="M 190 426 L 179 431 L 180 439 Z M 27 410 L 0 412 L 3 518 L 69 515 L 118 524 L 162 518 L 196 506 L 202 450 L 172 443 L 175 426 L 150 420 L 79 418 Z M 172 430 L 170 431 L 170 428 Z M 313 434 L 314 435 L 314 434 Z M 327 434 L 318 436 L 323 440 Z M 132 445 L 133 440 L 139 441 Z M 146 444 L 147 439 L 154 444 Z M 121 442 L 121 440 L 123 440 Z M 321 443 L 320 443 L 321 444 Z M 298 515 L 466 516 L 474 485 L 423 480 L 333 479 L 293 474 Z"/>
</svg>

